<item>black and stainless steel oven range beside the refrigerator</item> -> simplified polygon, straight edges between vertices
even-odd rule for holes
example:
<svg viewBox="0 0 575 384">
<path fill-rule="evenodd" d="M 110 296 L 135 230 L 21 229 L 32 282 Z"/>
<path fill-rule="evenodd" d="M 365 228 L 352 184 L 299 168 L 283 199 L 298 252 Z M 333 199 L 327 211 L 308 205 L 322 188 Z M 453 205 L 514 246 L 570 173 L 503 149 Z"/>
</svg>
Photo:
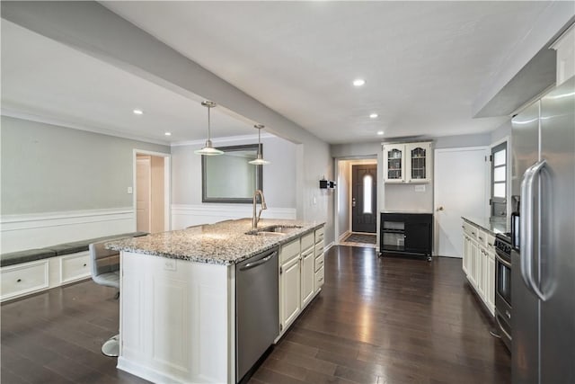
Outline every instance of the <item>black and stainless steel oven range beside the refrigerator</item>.
<svg viewBox="0 0 575 384">
<path fill-rule="evenodd" d="M 511 350 L 511 237 L 495 236 L 495 321 L 503 343 Z"/>
</svg>

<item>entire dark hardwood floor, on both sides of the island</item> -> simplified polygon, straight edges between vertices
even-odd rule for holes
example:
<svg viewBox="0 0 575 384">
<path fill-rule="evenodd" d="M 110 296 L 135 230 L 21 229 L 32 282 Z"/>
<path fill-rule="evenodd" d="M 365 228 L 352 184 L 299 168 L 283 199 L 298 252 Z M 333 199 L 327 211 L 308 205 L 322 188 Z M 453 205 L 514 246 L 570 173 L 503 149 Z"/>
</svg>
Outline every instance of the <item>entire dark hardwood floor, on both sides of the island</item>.
<svg viewBox="0 0 575 384">
<path fill-rule="evenodd" d="M 334 246 L 325 285 L 250 382 L 509 383 L 510 357 L 460 259 Z M 142 383 L 103 356 L 115 290 L 84 281 L 1 307 L 1 382 Z"/>
</svg>

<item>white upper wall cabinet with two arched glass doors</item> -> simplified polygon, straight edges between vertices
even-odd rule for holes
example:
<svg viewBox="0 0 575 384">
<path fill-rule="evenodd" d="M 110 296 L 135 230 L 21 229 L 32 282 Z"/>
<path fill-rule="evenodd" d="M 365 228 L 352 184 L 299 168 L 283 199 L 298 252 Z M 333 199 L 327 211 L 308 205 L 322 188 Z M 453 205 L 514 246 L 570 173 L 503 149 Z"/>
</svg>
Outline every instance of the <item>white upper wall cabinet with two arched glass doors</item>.
<svg viewBox="0 0 575 384">
<path fill-rule="evenodd" d="M 385 183 L 429 183 L 431 142 L 384 145 Z"/>
</svg>

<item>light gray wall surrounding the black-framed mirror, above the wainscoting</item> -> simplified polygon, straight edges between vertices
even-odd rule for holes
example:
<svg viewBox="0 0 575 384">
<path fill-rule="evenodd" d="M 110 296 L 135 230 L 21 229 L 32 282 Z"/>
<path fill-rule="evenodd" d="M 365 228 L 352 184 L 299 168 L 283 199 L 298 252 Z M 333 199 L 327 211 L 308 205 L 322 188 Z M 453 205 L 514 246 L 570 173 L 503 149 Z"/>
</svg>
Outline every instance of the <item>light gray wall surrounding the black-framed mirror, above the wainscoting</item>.
<svg viewBox="0 0 575 384">
<path fill-rule="evenodd" d="M 216 147 L 255 144 L 257 141 L 214 140 Z M 266 203 L 274 208 L 296 208 L 296 145 L 283 138 L 261 138 L 263 158 L 263 192 Z M 172 186 L 174 204 L 201 204 L 201 156 L 194 150 L 201 144 L 172 147 Z M 247 160 L 246 160 L 247 162 Z M 253 166 L 253 165 L 250 165 Z M 231 185 L 230 188 L 234 188 Z M 207 203 L 209 204 L 209 203 Z"/>
</svg>

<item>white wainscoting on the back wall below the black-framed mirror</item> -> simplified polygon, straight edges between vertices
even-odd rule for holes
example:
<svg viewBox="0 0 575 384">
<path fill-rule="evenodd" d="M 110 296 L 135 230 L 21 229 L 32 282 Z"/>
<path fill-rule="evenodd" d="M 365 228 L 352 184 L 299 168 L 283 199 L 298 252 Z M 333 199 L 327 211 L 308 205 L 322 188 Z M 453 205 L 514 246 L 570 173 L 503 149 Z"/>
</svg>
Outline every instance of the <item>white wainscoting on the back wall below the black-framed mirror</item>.
<svg viewBox="0 0 575 384">
<path fill-rule="evenodd" d="M 172 229 L 251 217 L 252 204 L 172 204 Z M 261 219 L 296 219 L 296 209 L 268 207 Z"/>
</svg>

